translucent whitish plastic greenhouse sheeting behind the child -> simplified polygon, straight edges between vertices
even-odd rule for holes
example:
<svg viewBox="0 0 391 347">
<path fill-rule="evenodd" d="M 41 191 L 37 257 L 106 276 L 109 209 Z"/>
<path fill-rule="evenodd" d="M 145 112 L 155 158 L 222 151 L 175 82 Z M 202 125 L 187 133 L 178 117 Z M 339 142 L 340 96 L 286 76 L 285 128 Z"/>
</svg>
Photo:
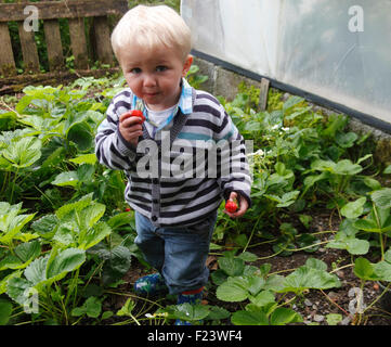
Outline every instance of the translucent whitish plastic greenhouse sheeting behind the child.
<svg viewBox="0 0 391 347">
<path fill-rule="evenodd" d="M 194 49 L 391 124 L 390 0 L 182 0 Z"/>
</svg>

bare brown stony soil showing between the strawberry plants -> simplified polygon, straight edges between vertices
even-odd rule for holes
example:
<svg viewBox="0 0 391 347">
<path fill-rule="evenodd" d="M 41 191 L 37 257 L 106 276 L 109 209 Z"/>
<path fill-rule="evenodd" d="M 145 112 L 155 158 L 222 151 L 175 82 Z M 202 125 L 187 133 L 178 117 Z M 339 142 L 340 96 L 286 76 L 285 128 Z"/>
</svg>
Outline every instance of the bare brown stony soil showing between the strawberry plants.
<svg viewBox="0 0 391 347">
<path fill-rule="evenodd" d="M 338 218 L 330 218 L 328 213 L 317 214 L 313 216 L 313 220 L 308 232 L 322 232 L 327 230 L 338 230 Z M 318 241 L 327 241 L 330 237 L 330 233 L 322 234 Z M 264 262 L 272 265 L 271 273 L 278 272 L 282 275 L 288 275 L 295 269 L 303 266 L 310 257 L 323 260 L 328 266 L 328 271 L 333 271 L 340 282 L 339 288 L 330 288 L 327 291 L 311 290 L 305 292 L 303 297 L 299 300 L 295 300 L 292 308 L 301 314 L 303 322 L 295 323 L 300 325 L 329 325 L 327 316 L 330 313 L 337 313 L 341 316 L 341 320 L 338 321 L 338 325 L 390 325 L 391 313 L 385 311 L 380 306 L 380 300 L 376 301 L 370 309 L 365 311 L 361 321 L 359 321 L 359 314 L 352 314 L 350 310 L 354 309 L 356 305 L 355 291 L 360 288 L 360 279 L 353 273 L 353 267 L 351 266 L 351 256 L 341 249 L 333 249 L 326 247 L 320 247 L 316 252 L 305 253 L 296 252 L 289 256 L 273 256 L 274 252 L 271 244 L 263 244 L 262 246 L 253 247 L 249 249 L 256 254 L 259 258 L 265 258 L 265 260 L 258 260 L 251 265 L 260 266 Z M 368 255 L 366 255 L 368 257 Z M 370 256 L 369 256 L 369 260 Z M 373 259 L 376 261 L 376 258 Z M 218 262 L 216 256 L 208 258 L 207 265 L 210 271 L 218 269 Z M 151 272 L 151 271 L 149 271 Z M 134 281 L 144 275 L 145 267 L 133 261 L 133 266 L 129 272 L 125 275 L 123 280 L 127 284 L 123 285 L 125 291 L 132 291 Z M 216 297 L 216 287 L 206 291 L 204 304 L 217 305 L 227 309 L 230 312 L 240 310 L 244 308 L 244 303 L 224 303 Z M 367 307 L 381 294 L 381 288 L 373 281 L 367 281 L 363 290 L 363 303 Z M 285 300 L 289 300 L 291 296 L 286 296 Z M 125 304 L 127 297 L 118 296 L 115 301 L 115 309 L 120 309 Z M 162 305 L 173 305 L 172 303 L 160 301 Z M 152 312 L 153 313 L 153 310 Z M 224 324 L 232 324 L 230 321 Z"/>
</svg>

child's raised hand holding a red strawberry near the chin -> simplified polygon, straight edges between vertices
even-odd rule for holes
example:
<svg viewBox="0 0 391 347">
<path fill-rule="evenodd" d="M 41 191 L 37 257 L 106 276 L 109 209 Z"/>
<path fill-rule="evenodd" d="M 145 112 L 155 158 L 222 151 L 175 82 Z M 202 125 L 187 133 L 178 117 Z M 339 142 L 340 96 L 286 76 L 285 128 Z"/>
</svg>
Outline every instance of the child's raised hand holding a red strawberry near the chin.
<svg viewBox="0 0 391 347">
<path fill-rule="evenodd" d="M 138 146 L 139 137 L 143 134 L 142 123 L 144 120 L 145 117 L 139 110 L 126 112 L 119 117 L 119 132 L 133 146 Z"/>
</svg>

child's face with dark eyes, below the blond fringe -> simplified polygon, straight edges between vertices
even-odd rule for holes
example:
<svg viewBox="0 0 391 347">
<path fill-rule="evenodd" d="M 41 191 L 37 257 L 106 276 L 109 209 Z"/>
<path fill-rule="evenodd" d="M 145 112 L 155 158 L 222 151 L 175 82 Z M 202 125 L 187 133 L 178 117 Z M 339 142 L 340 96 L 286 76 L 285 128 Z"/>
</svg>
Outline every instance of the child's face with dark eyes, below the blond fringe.
<svg viewBox="0 0 391 347">
<path fill-rule="evenodd" d="M 190 55 L 183 62 L 177 50 L 165 47 L 153 51 L 133 47 L 119 54 L 129 88 L 154 111 L 162 111 L 178 103 L 181 78 L 187 74 L 192 61 Z"/>
</svg>

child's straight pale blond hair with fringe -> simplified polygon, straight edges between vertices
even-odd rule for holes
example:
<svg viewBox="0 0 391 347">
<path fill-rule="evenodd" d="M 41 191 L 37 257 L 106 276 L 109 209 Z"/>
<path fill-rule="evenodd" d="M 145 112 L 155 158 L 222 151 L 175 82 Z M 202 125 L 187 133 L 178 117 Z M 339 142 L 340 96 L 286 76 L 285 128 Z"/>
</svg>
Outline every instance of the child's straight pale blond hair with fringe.
<svg viewBox="0 0 391 347">
<path fill-rule="evenodd" d="M 183 18 L 167 5 L 138 5 L 129 10 L 112 34 L 113 51 L 141 46 L 153 50 L 165 46 L 178 49 L 185 60 L 192 49 L 192 34 Z"/>
</svg>

